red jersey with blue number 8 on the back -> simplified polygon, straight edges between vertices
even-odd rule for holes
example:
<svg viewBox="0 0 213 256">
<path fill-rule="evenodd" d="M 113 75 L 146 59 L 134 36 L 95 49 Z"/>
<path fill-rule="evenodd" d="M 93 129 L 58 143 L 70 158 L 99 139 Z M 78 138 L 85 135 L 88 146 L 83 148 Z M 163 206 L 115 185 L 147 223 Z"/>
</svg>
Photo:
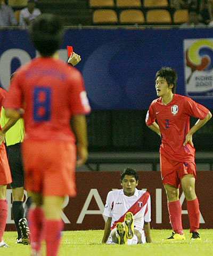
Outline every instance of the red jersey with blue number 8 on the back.
<svg viewBox="0 0 213 256">
<path fill-rule="evenodd" d="M 71 116 L 90 111 L 80 72 L 53 58 L 36 58 L 19 69 L 4 108 L 24 109 L 25 139 L 73 142 Z"/>
</svg>

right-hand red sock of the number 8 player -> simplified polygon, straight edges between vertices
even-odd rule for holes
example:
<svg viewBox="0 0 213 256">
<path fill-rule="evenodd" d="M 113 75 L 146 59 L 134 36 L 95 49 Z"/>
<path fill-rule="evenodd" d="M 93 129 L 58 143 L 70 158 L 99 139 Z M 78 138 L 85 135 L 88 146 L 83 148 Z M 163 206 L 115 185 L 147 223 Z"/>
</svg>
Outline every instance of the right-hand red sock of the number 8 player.
<svg viewBox="0 0 213 256">
<path fill-rule="evenodd" d="M 56 256 L 61 241 L 62 220 L 46 219 L 46 256 Z"/>
</svg>

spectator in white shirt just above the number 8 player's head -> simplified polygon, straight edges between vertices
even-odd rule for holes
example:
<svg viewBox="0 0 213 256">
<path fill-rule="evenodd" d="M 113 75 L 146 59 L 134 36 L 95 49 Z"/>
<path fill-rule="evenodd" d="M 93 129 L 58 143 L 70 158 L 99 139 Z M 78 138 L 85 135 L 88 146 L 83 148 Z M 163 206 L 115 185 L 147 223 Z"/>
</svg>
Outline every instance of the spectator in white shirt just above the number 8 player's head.
<svg viewBox="0 0 213 256">
<path fill-rule="evenodd" d="M 28 0 L 27 7 L 20 12 L 19 26 L 29 26 L 40 14 L 40 10 L 36 8 L 36 0 Z"/>
</svg>

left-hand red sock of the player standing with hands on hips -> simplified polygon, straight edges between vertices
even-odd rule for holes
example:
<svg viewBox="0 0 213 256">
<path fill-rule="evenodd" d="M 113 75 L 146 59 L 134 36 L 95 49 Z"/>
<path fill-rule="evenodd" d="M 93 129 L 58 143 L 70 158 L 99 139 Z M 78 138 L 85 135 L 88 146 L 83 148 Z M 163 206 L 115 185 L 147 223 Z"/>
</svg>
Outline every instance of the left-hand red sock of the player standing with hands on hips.
<svg viewBox="0 0 213 256">
<path fill-rule="evenodd" d="M 183 227 L 182 227 L 182 207 L 181 202 L 175 201 L 168 203 L 168 210 L 169 210 L 169 219 L 171 221 L 171 227 L 175 233 L 183 234 Z"/>
</svg>

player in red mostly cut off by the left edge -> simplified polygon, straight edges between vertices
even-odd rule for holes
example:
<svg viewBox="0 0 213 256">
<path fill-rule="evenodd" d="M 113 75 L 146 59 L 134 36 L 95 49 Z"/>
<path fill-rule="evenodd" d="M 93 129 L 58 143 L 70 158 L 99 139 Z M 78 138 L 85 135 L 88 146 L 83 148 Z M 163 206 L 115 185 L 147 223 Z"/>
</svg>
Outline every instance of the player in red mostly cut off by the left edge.
<svg viewBox="0 0 213 256">
<path fill-rule="evenodd" d="M 0 87 L 0 108 L 6 97 L 6 90 Z M 8 247 L 8 245 L 2 240 L 7 220 L 7 200 L 6 200 L 6 187 L 7 184 L 12 182 L 9 163 L 7 160 L 6 148 L 4 143 L 0 145 L 0 247 Z"/>
</svg>

